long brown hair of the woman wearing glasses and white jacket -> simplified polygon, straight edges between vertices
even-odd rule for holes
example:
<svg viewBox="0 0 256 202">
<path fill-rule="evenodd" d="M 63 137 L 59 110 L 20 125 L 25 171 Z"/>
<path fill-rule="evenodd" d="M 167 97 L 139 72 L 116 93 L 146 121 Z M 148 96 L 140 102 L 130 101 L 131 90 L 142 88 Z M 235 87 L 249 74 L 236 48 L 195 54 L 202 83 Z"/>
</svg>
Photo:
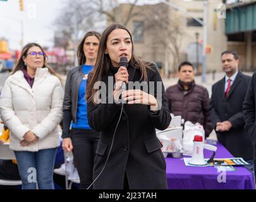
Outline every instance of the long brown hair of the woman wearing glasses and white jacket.
<svg viewBox="0 0 256 202">
<path fill-rule="evenodd" d="M 61 77 L 59 76 L 59 74 L 57 74 L 56 71 L 54 71 L 50 66 L 48 66 L 48 64 L 47 64 L 48 57 L 46 56 L 46 52 L 37 43 L 29 43 L 23 47 L 23 49 L 21 50 L 21 53 L 20 53 L 20 57 L 18 58 L 18 61 L 16 62 L 15 69 L 13 70 L 13 73 L 11 73 L 11 74 L 14 74 L 14 73 L 16 73 L 16 71 L 19 71 L 19 70 L 24 70 L 24 69 L 27 70 L 27 66 L 25 65 L 25 62 L 23 61 L 23 57 L 27 57 L 28 49 L 30 49 L 31 47 L 34 47 L 34 46 L 39 47 L 39 49 L 41 49 L 42 52 L 44 52 L 44 66 L 42 66 L 42 68 L 47 68 L 52 75 L 57 76 L 59 78 L 59 80 L 61 81 Z"/>
</svg>

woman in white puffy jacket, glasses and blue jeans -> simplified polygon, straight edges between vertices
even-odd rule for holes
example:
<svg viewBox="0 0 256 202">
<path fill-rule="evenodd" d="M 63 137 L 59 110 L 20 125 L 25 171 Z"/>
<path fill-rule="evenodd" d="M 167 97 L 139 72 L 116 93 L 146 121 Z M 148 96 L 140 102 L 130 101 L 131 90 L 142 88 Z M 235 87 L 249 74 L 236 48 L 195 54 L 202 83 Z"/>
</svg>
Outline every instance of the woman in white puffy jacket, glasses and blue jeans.
<svg viewBox="0 0 256 202">
<path fill-rule="evenodd" d="M 10 129 L 23 189 L 54 189 L 53 170 L 60 145 L 63 88 L 39 44 L 27 44 L 0 97 L 0 114 Z"/>
</svg>

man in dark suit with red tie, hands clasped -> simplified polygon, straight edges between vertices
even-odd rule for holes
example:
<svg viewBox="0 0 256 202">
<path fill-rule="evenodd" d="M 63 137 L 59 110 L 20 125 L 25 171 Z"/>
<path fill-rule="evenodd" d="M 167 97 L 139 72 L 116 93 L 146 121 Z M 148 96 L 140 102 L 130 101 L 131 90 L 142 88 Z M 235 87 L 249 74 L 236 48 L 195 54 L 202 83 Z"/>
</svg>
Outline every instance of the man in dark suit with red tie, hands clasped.
<svg viewBox="0 0 256 202">
<path fill-rule="evenodd" d="M 243 157 L 253 172 L 253 147 L 244 129 L 243 101 L 250 83 L 250 76 L 238 71 L 238 55 L 226 50 L 221 54 L 222 69 L 226 73 L 222 80 L 212 86 L 210 119 L 216 130 L 218 141 L 234 157 Z"/>
</svg>

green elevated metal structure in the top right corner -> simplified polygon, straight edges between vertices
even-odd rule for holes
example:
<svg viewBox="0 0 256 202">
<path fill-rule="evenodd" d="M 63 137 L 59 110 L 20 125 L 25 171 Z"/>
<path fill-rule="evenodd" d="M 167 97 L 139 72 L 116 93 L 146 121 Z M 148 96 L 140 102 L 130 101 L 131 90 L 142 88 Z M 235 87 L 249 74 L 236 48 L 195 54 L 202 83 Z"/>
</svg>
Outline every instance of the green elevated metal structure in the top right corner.
<svg viewBox="0 0 256 202">
<path fill-rule="evenodd" d="M 256 1 L 243 0 L 227 4 L 225 32 L 228 49 L 236 50 L 240 68 L 256 69 Z"/>
</svg>

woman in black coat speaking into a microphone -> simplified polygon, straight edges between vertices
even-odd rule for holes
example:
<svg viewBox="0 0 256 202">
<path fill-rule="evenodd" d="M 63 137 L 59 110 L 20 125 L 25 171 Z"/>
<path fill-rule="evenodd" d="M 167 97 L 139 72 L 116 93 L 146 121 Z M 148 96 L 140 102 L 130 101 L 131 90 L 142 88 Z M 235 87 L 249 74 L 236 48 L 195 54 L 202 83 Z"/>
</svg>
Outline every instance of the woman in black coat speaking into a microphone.
<svg viewBox="0 0 256 202">
<path fill-rule="evenodd" d="M 119 67 L 121 57 L 127 69 Z M 123 82 L 129 83 L 125 91 Z M 155 128 L 164 130 L 171 122 L 164 86 L 155 65 L 135 56 L 131 33 L 123 25 L 110 25 L 102 33 L 86 98 L 88 123 L 101 132 L 94 189 L 166 189 L 166 162 L 155 134 Z"/>
</svg>

